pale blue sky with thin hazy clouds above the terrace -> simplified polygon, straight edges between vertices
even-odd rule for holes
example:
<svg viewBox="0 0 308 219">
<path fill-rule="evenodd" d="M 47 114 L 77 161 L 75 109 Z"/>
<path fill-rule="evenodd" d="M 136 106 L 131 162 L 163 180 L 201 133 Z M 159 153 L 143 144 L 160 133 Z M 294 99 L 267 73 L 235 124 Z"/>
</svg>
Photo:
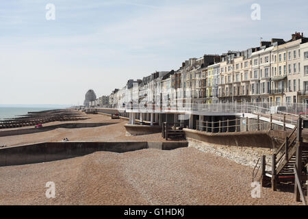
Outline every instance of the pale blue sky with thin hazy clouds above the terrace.
<svg viewBox="0 0 308 219">
<path fill-rule="evenodd" d="M 81 105 L 190 57 L 308 36 L 307 12 L 307 0 L 0 0 L 0 105 Z"/>
</svg>

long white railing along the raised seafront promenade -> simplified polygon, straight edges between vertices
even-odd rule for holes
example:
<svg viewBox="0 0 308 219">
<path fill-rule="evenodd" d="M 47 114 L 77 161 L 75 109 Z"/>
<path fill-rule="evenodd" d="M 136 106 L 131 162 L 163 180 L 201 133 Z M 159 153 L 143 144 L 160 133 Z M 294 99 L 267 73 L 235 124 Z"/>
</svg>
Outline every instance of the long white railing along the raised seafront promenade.
<svg viewBox="0 0 308 219">
<path fill-rule="evenodd" d="M 170 103 L 164 101 L 159 104 L 125 103 L 107 108 L 125 110 L 125 112 L 221 112 L 235 114 L 259 114 L 272 120 L 295 125 L 298 116 L 307 116 L 307 104 L 303 103 Z M 98 107 L 100 108 L 100 107 Z"/>
</svg>

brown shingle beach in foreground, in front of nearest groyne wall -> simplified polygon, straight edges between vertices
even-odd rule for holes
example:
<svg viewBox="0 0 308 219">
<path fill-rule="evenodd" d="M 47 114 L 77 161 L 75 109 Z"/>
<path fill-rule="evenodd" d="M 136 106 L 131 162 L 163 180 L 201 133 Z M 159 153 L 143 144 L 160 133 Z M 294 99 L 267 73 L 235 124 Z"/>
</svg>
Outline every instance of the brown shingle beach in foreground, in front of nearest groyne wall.
<svg viewBox="0 0 308 219">
<path fill-rule="evenodd" d="M 252 168 L 192 147 L 97 152 L 0 168 L 0 205 L 301 205 L 262 188 L 251 198 Z M 56 198 L 45 184 L 55 182 Z"/>
</svg>

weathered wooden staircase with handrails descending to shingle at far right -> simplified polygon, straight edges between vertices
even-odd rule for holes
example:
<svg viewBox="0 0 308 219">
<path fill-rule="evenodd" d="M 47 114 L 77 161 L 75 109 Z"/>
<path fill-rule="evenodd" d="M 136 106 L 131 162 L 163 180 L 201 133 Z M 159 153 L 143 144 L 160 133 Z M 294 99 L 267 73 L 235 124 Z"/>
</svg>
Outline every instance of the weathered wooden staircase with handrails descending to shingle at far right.
<svg viewBox="0 0 308 219">
<path fill-rule="evenodd" d="M 272 170 L 266 171 L 265 156 L 262 157 L 262 186 L 268 184 L 270 179 L 272 190 L 277 190 L 277 185 L 294 183 L 294 196 L 296 201 L 307 201 L 304 196 L 305 181 L 307 178 L 308 143 L 303 142 L 303 119 L 298 118 L 298 123 L 291 133 L 285 138 L 283 144 L 272 155 Z"/>
</svg>

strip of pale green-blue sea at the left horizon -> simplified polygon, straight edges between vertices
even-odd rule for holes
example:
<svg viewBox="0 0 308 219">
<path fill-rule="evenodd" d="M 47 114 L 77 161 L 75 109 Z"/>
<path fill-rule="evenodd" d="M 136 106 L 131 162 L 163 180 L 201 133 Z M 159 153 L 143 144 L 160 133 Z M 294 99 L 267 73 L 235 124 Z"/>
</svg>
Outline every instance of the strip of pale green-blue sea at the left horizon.
<svg viewBox="0 0 308 219">
<path fill-rule="evenodd" d="M 0 107 L 0 120 L 23 116 L 26 115 L 28 112 L 38 112 L 55 109 L 55 107 Z"/>
</svg>

